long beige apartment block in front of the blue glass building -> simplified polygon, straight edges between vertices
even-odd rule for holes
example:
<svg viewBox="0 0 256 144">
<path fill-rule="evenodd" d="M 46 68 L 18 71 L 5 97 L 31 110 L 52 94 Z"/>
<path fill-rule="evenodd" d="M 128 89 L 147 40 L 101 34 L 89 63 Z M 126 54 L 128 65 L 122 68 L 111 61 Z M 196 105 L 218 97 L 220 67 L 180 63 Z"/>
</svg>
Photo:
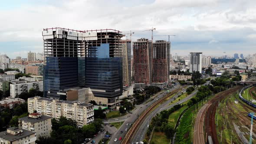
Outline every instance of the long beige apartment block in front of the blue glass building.
<svg viewBox="0 0 256 144">
<path fill-rule="evenodd" d="M 64 101 L 39 96 L 28 98 L 28 112 L 33 113 L 35 110 L 39 114 L 57 120 L 61 116 L 75 120 L 79 128 L 94 121 L 94 105 L 80 101 Z"/>
</svg>

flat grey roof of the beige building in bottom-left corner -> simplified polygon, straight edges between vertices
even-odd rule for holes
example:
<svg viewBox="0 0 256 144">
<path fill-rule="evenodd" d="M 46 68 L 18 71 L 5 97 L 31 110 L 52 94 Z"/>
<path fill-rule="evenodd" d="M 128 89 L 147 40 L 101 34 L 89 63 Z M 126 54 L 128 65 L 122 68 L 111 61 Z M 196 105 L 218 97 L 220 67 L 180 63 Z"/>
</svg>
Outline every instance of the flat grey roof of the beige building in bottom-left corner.
<svg viewBox="0 0 256 144">
<path fill-rule="evenodd" d="M 8 129 L 10 129 L 10 128 L 8 128 Z M 13 129 L 10 129 L 10 130 L 13 131 Z M 33 131 L 27 131 L 27 130 L 24 130 L 24 129 L 22 129 L 22 131 L 23 131 L 22 134 L 18 134 L 18 135 L 8 134 L 7 131 L 2 131 L 2 132 L 0 132 L 0 137 L 7 140 L 7 141 L 16 141 L 16 140 L 21 139 L 23 137 L 27 137 L 31 134 L 35 134 L 35 132 L 33 132 Z"/>
</svg>

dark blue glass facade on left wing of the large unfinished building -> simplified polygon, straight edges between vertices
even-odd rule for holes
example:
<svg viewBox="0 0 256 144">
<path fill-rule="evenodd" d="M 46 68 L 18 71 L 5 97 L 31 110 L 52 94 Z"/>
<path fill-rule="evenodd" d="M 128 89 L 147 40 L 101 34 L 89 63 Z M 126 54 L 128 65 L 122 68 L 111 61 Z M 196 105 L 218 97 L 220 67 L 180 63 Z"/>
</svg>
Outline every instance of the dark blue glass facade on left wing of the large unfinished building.
<svg viewBox="0 0 256 144">
<path fill-rule="evenodd" d="M 44 74 L 44 97 L 66 99 L 61 92 L 79 86 L 78 58 L 47 57 Z"/>
</svg>

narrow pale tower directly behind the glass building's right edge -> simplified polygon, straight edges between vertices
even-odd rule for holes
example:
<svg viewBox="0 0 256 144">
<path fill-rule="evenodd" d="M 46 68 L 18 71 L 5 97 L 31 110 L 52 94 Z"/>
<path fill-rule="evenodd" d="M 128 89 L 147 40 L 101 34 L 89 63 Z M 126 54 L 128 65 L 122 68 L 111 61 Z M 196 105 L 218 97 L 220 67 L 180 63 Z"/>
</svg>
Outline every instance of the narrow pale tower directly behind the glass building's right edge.
<svg viewBox="0 0 256 144">
<path fill-rule="evenodd" d="M 123 58 L 123 85 L 131 85 L 131 40 L 121 40 Z"/>
</svg>

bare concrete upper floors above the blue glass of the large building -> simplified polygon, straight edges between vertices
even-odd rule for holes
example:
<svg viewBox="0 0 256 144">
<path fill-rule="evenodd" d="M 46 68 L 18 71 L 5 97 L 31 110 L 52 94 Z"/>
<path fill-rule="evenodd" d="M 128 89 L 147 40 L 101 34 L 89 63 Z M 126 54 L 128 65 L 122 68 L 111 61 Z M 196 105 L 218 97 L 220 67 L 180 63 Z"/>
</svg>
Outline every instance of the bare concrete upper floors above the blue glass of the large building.
<svg viewBox="0 0 256 144">
<path fill-rule="evenodd" d="M 109 44 L 109 56 L 121 57 L 121 32 L 115 29 L 79 31 L 43 29 L 44 57 L 97 57 L 97 47 Z"/>
</svg>

